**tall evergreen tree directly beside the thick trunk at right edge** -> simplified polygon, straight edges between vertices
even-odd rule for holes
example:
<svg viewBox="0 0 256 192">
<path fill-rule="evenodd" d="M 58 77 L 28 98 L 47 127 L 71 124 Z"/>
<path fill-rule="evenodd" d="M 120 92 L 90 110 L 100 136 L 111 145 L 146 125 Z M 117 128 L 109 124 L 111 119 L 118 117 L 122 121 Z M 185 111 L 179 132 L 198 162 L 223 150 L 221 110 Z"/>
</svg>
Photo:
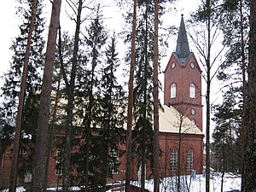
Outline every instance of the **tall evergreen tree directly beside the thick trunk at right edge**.
<svg viewBox="0 0 256 192">
<path fill-rule="evenodd" d="M 242 162 L 243 143 L 244 143 L 244 109 L 245 109 L 245 98 L 246 98 L 246 66 L 247 66 L 247 38 L 248 38 L 248 4 L 247 1 L 226 1 L 221 17 L 221 29 L 224 33 L 224 43 L 228 49 L 225 53 L 226 60 L 223 65 L 221 65 L 220 70 L 218 70 L 217 78 L 223 82 L 224 87 L 224 102 L 218 106 L 218 108 L 223 108 L 223 110 L 216 111 L 216 123 L 221 123 L 224 121 L 230 122 L 233 116 L 237 115 L 236 111 L 239 111 L 242 119 L 234 122 L 236 125 L 240 125 L 239 131 L 236 133 L 236 151 L 240 151 L 239 160 Z M 232 68 L 232 70 L 230 70 Z M 235 99 L 227 99 L 227 96 Z M 233 102 L 232 104 L 230 102 Z M 227 105 L 227 106 L 225 106 Z M 234 111 L 233 106 L 236 106 L 237 110 Z M 230 108 L 230 110 L 229 110 Z M 238 108 L 240 110 L 238 110 Z M 222 111 L 229 110 L 230 115 L 221 116 Z M 234 113 L 235 112 L 235 113 Z M 234 113 L 234 114 L 231 114 Z M 219 119 L 218 119 L 219 118 Z M 237 120 L 237 119 L 236 119 Z M 233 125 L 234 125 L 233 124 Z M 236 126 L 235 126 L 236 129 Z M 217 131 L 218 133 L 218 131 Z M 214 142 L 215 143 L 215 142 Z M 217 143 L 218 144 L 218 141 Z M 241 166 L 239 166 L 239 171 L 241 171 Z"/>
</svg>

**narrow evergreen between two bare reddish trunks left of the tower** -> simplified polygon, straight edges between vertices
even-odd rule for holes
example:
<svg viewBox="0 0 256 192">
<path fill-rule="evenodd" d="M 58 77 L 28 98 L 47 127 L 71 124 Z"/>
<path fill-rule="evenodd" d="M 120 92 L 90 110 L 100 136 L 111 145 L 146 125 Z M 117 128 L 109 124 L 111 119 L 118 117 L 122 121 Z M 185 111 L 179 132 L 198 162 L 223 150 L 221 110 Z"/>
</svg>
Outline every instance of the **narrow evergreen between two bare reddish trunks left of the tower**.
<svg viewBox="0 0 256 192">
<path fill-rule="evenodd" d="M 137 138 L 137 156 L 140 159 L 141 181 L 144 189 L 146 160 L 152 162 L 153 154 L 153 36 L 154 3 L 138 2 L 136 66 L 134 85 L 134 127 Z M 139 168 L 139 167 L 138 167 Z"/>
</svg>

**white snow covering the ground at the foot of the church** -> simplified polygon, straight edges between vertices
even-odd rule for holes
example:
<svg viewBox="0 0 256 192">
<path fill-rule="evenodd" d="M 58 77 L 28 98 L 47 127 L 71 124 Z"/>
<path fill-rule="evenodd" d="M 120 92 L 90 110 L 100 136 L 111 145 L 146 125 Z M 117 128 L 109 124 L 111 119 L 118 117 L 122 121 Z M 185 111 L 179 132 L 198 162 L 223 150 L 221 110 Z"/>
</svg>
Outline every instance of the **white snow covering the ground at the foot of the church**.
<svg viewBox="0 0 256 192">
<path fill-rule="evenodd" d="M 211 192 L 221 191 L 221 174 L 215 173 L 212 175 L 210 188 Z M 160 192 L 176 192 L 175 183 L 177 182 L 177 177 L 167 177 L 161 179 L 160 183 Z M 206 177 L 203 175 L 195 175 L 194 177 L 181 177 L 181 191 L 188 192 L 204 192 L 206 191 Z M 140 186 L 139 182 L 133 182 L 132 184 L 136 186 Z M 145 188 L 150 192 L 154 191 L 154 180 L 147 180 L 145 183 Z M 223 183 L 223 191 L 231 191 L 231 190 L 240 190 L 241 188 L 241 176 L 232 173 L 225 173 L 224 175 L 224 183 Z M 51 188 L 53 190 L 53 188 Z M 8 192 L 8 189 L 2 190 L 2 192 Z M 23 187 L 19 187 L 16 189 L 16 192 L 23 192 L 25 189 Z M 116 191 L 116 190 L 115 190 Z M 108 190 L 111 192 L 111 190 Z"/>
</svg>

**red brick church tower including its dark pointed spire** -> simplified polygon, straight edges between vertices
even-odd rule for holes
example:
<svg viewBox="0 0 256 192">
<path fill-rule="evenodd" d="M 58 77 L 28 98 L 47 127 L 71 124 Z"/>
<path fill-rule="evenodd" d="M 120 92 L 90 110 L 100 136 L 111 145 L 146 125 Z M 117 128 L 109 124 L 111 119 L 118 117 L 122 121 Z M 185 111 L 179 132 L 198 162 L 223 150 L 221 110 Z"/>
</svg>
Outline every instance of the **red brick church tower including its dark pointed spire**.
<svg viewBox="0 0 256 192">
<path fill-rule="evenodd" d="M 164 104 L 176 108 L 202 131 L 201 69 L 189 50 L 183 15 L 176 50 L 165 70 Z"/>
</svg>

